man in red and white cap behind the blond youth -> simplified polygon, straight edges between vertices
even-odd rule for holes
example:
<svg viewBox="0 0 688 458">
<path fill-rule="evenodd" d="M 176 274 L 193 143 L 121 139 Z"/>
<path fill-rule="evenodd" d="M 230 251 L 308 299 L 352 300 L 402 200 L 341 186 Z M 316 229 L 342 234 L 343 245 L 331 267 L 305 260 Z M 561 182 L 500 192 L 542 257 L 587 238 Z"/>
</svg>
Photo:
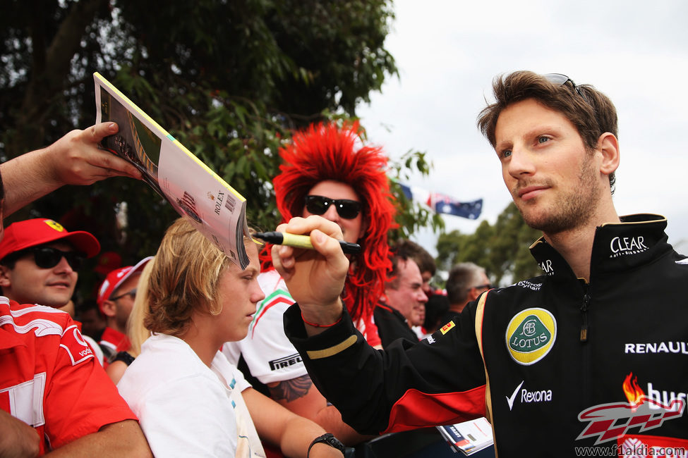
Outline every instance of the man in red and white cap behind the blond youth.
<svg viewBox="0 0 688 458">
<path fill-rule="evenodd" d="M 153 256 L 148 256 L 135 266 L 116 268 L 107 274 L 98 289 L 98 307 L 107 321 L 107 327 L 99 339 L 106 359 L 118 351 L 129 349 L 126 321 L 131 314 L 141 271 L 151 259 Z"/>
</svg>

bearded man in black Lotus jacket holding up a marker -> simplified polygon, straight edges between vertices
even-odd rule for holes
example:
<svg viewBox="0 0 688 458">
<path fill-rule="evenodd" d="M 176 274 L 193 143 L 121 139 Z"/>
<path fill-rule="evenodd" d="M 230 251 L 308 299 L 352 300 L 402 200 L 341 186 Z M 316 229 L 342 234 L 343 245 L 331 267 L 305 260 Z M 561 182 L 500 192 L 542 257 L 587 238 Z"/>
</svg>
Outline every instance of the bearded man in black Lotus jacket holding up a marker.
<svg viewBox="0 0 688 458">
<path fill-rule="evenodd" d="M 299 218 L 279 230 L 310 233 L 321 256 L 273 250 L 298 301 L 287 335 L 361 432 L 487 414 L 502 457 L 686 454 L 688 260 L 668 245 L 665 218 L 615 211 L 612 102 L 558 74 L 516 72 L 493 89 L 478 125 L 543 232 L 531 247 L 543 276 L 483 293 L 419 344 L 376 352 L 337 299 L 337 228 Z"/>
</svg>

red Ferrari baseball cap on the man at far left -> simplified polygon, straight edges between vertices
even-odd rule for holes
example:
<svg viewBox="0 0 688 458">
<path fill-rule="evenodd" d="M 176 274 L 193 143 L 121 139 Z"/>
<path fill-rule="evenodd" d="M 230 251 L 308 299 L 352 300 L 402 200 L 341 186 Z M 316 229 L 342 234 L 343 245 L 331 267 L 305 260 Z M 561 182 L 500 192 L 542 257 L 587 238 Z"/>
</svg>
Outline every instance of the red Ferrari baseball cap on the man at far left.
<svg viewBox="0 0 688 458">
<path fill-rule="evenodd" d="M 100 251 L 98 240 L 83 230 L 69 232 L 60 223 L 46 218 L 17 221 L 5 228 L 5 236 L 0 241 L 0 259 L 22 249 L 64 240 L 78 252 L 90 258 Z"/>
</svg>

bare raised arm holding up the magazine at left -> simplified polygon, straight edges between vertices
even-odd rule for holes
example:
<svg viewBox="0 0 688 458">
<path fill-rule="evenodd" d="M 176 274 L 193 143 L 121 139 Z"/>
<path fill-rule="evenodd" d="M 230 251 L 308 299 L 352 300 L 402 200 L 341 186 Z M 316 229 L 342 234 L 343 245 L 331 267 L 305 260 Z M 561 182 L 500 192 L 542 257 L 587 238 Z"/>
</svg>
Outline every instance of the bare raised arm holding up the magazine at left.
<svg viewBox="0 0 688 458">
<path fill-rule="evenodd" d="M 141 178 L 131 163 L 98 148 L 116 123 L 72 130 L 49 147 L 30 151 L 0 164 L 5 189 L 4 216 L 63 185 L 90 185 L 114 176 Z"/>
</svg>

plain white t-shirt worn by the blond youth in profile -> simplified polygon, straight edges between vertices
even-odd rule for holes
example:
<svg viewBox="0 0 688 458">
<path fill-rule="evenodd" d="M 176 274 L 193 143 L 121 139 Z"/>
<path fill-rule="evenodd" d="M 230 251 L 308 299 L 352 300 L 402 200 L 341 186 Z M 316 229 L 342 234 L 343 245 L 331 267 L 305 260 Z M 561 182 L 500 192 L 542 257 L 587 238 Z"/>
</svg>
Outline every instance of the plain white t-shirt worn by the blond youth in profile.
<svg viewBox="0 0 688 458">
<path fill-rule="evenodd" d="M 158 457 L 265 457 L 243 402 L 241 371 L 220 352 L 208 368 L 186 342 L 157 334 L 117 384 Z"/>
</svg>

